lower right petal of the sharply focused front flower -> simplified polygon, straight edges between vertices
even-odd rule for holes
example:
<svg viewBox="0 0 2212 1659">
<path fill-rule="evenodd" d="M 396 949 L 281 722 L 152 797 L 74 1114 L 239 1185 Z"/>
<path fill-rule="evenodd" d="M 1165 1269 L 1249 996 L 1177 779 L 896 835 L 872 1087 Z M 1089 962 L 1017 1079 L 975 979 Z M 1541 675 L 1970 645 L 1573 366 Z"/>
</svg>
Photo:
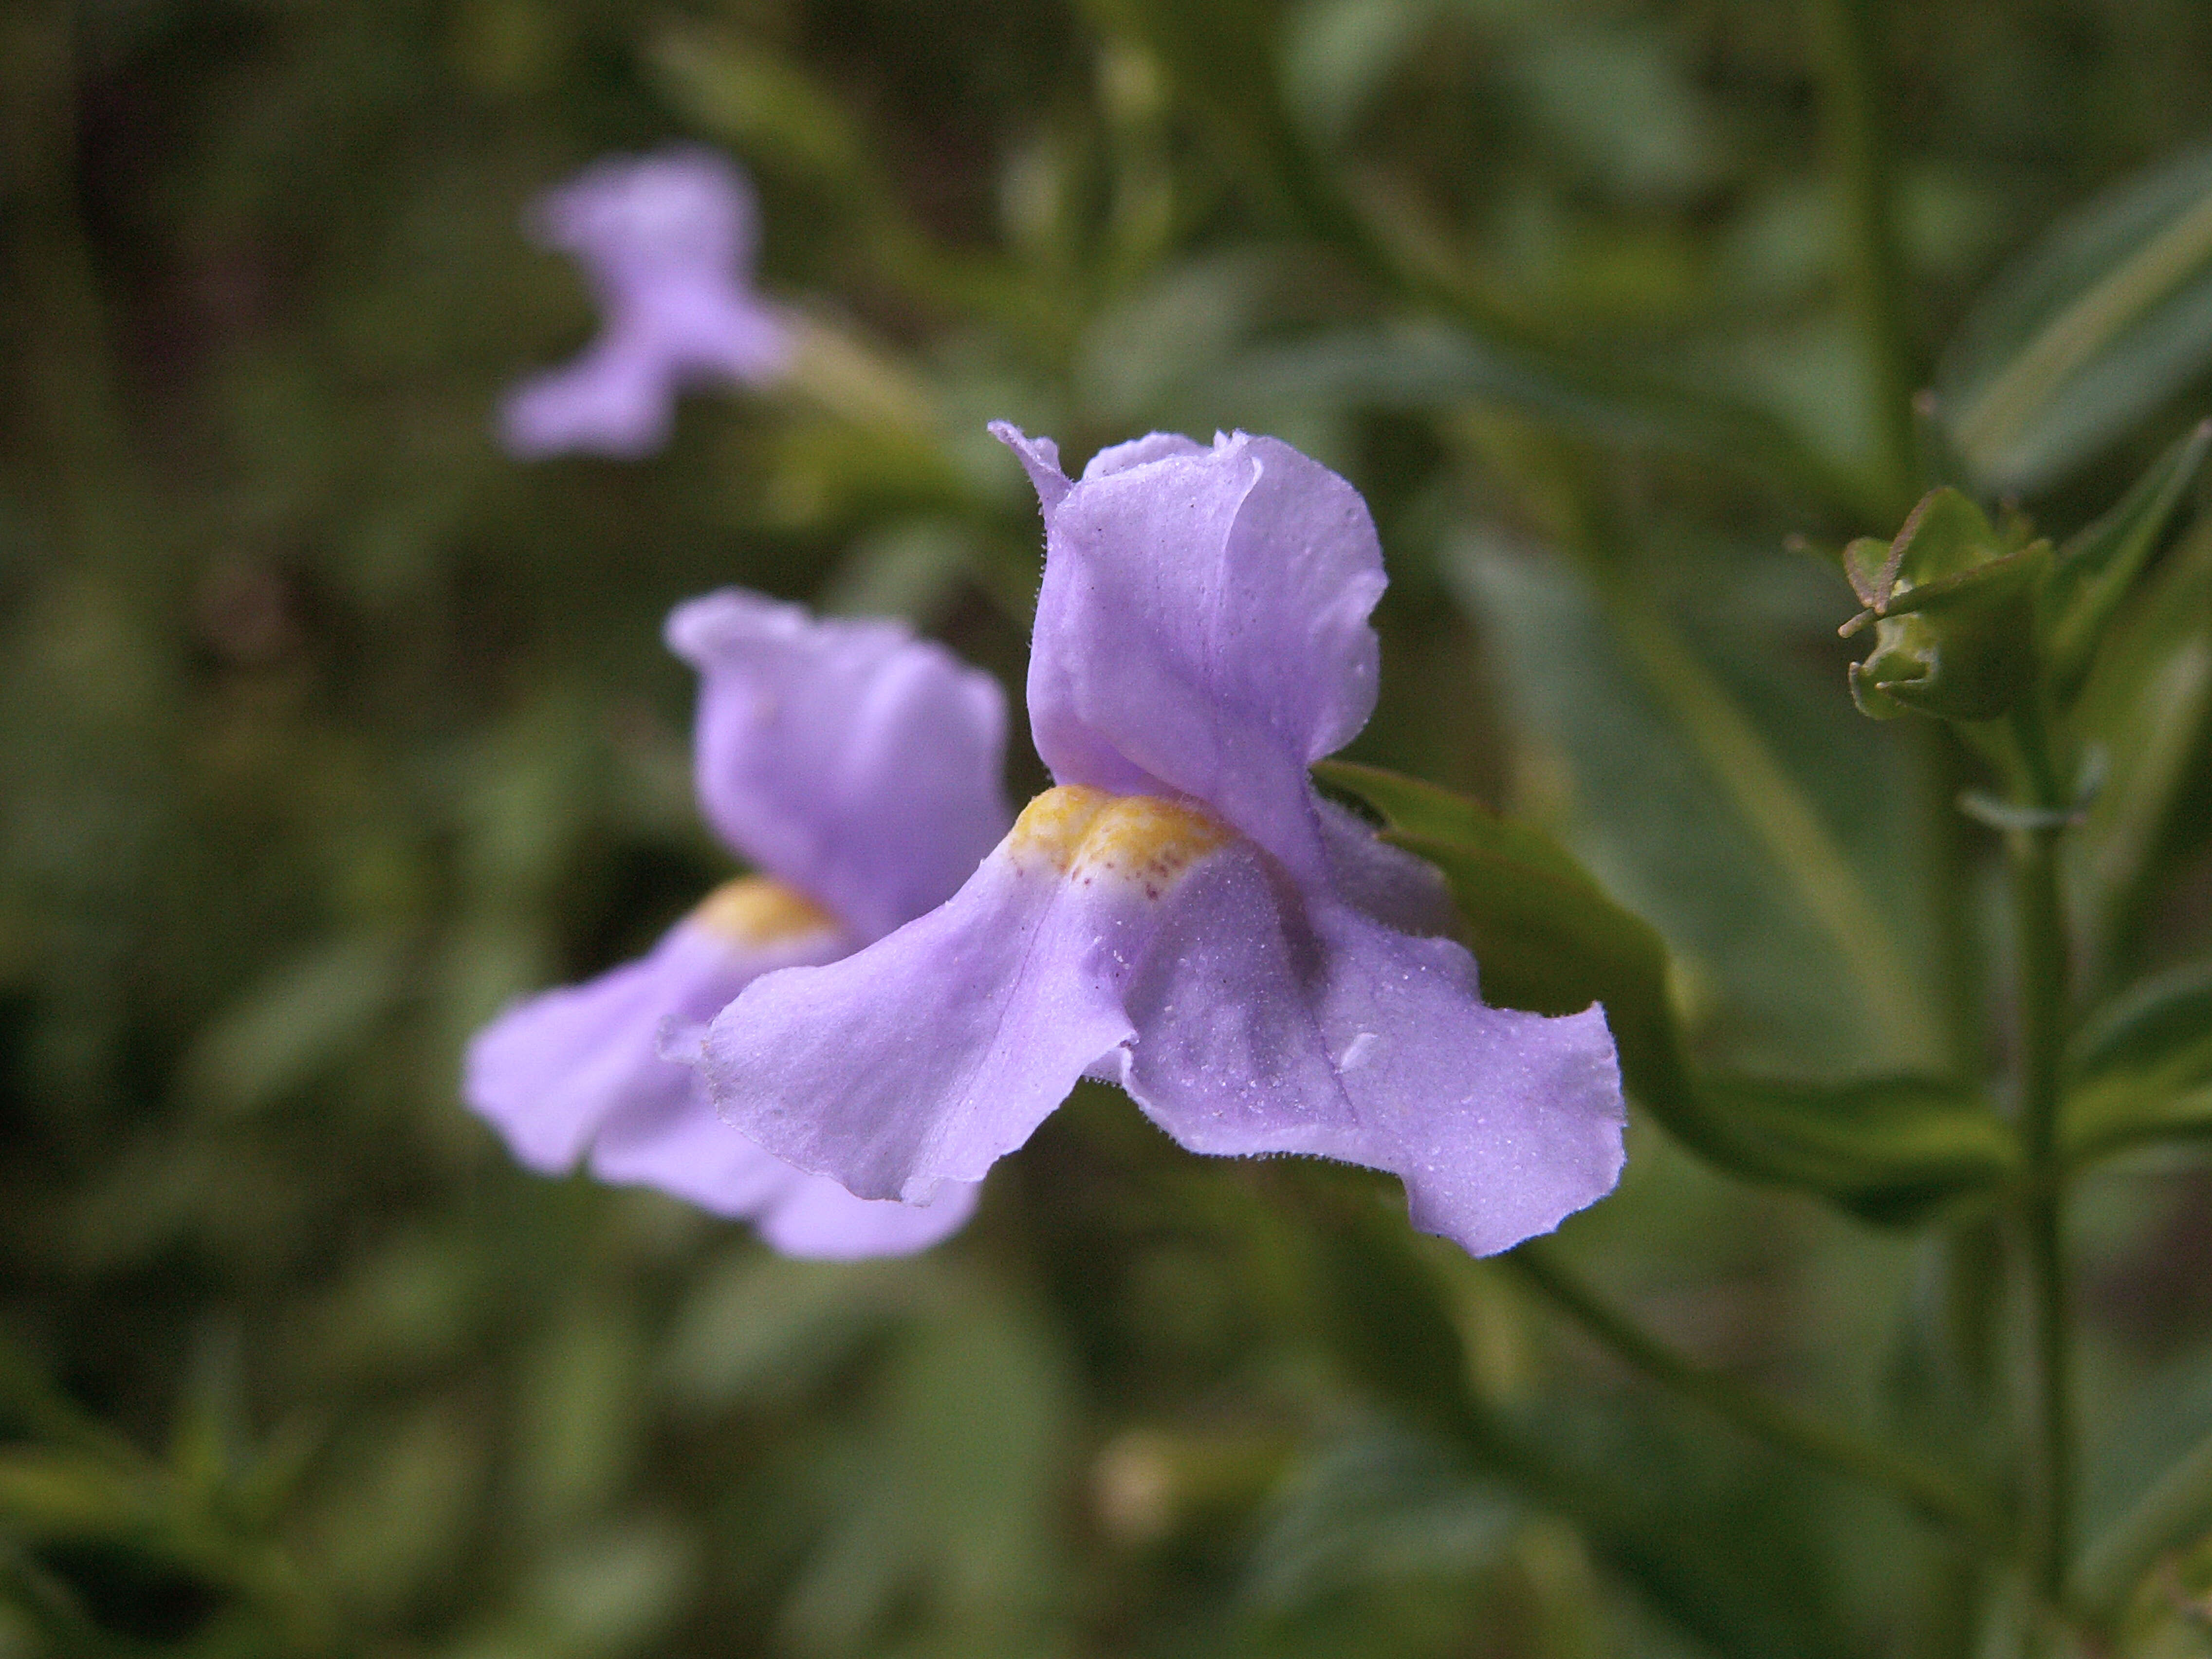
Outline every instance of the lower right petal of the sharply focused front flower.
<svg viewBox="0 0 2212 1659">
<path fill-rule="evenodd" d="M 1239 860 L 1177 891 L 1126 1006 L 1124 1086 L 1181 1146 L 1389 1170 L 1413 1225 L 1478 1256 L 1619 1179 L 1621 1084 L 1597 1009 L 1489 1009 L 1451 940 L 1267 891 Z"/>
</svg>

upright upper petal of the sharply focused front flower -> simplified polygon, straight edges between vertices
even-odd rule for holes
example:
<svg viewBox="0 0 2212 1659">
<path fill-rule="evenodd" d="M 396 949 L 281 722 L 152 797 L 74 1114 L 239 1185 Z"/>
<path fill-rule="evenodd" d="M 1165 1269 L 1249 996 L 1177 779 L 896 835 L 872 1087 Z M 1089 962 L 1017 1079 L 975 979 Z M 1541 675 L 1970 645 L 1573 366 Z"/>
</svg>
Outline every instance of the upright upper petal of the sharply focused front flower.
<svg viewBox="0 0 2212 1659">
<path fill-rule="evenodd" d="M 1139 438 L 1068 484 L 993 431 L 1044 504 L 1029 712 L 1053 776 L 1203 801 L 1318 880 L 1305 768 L 1376 697 L 1383 553 L 1358 491 L 1245 434 Z"/>
</svg>

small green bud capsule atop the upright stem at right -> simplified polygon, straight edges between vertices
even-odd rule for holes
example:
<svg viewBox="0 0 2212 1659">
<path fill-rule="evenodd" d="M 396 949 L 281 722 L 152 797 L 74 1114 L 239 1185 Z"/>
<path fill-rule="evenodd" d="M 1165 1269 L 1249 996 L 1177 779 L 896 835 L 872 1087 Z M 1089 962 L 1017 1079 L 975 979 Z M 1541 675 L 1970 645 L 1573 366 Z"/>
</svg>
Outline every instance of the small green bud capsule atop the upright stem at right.
<svg viewBox="0 0 2212 1659">
<path fill-rule="evenodd" d="M 1997 719 L 2035 679 L 2035 597 L 2051 544 L 2000 533 L 1966 495 L 1936 489 L 1882 549 L 1860 538 L 1843 568 L 1874 624 L 1874 653 L 1851 664 L 1851 701 L 1871 719 L 1907 710 L 1955 721 Z"/>
</svg>

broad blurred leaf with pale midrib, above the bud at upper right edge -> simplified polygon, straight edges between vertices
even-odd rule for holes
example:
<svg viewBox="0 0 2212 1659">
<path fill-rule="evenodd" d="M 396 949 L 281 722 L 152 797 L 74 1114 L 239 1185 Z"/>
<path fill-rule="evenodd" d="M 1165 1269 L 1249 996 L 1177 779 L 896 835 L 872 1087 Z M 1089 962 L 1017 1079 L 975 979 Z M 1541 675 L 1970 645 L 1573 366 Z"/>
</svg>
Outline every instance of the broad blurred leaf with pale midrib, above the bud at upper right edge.
<svg viewBox="0 0 2212 1659">
<path fill-rule="evenodd" d="M 1969 314 L 1942 376 L 1953 440 L 1989 491 L 2095 456 L 2212 363 L 2212 150 L 2062 221 Z"/>
</svg>

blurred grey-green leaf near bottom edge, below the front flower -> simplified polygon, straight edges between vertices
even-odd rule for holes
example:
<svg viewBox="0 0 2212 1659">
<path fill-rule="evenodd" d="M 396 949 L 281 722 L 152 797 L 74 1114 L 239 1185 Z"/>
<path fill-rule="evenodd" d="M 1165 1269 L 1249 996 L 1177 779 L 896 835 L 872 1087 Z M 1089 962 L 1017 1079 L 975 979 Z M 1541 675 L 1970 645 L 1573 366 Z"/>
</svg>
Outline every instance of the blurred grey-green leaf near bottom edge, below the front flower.
<svg viewBox="0 0 2212 1659">
<path fill-rule="evenodd" d="M 1349 1588 L 1495 1566 L 1522 1504 L 1473 1478 L 1449 1444 L 1354 1433 L 1298 1469 L 1245 1564 L 1245 1595 L 1270 1613 Z"/>
</svg>

